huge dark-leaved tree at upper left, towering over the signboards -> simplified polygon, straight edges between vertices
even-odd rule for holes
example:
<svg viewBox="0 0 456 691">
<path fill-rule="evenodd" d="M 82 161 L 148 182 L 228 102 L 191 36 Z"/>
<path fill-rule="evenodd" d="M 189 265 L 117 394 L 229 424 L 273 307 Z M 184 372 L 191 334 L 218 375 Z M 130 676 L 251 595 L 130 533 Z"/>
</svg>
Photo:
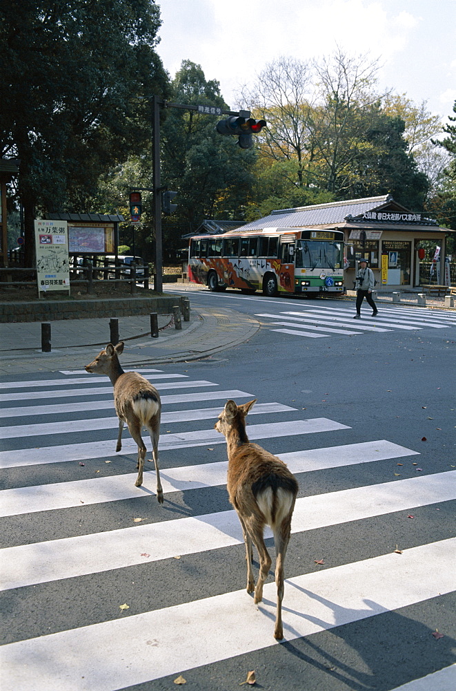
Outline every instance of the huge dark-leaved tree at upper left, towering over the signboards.
<svg viewBox="0 0 456 691">
<path fill-rule="evenodd" d="M 21 160 L 26 262 L 36 212 L 87 211 L 99 176 L 150 136 L 166 91 L 151 0 L 10 0 L 0 23 L 1 155 Z"/>
</svg>

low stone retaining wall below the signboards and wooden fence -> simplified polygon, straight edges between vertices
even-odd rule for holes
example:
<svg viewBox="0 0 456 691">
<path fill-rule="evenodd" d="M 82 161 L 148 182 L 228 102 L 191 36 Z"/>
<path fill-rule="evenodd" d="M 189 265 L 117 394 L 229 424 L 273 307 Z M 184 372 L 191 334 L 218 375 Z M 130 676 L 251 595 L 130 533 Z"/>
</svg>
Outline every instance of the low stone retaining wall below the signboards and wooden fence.
<svg viewBox="0 0 456 691">
<path fill-rule="evenodd" d="M 159 295 L 148 297 L 122 297 L 97 299 L 59 299 L 18 302 L 0 302 L 0 323 L 18 321 L 57 321 L 59 319 L 93 319 L 94 317 L 134 316 L 136 314 L 172 314 L 181 296 Z"/>
</svg>

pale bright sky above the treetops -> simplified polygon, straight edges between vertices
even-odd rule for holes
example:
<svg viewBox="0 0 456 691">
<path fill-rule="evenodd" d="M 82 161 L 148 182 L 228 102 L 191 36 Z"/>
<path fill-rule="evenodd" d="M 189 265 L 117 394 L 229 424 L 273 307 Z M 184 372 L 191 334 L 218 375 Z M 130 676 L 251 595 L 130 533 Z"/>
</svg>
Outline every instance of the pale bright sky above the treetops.
<svg viewBox="0 0 456 691">
<path fill-rule="evenodd" d="M 157 46 L 171 77 L 188 59 L 237 106 L 236 91 L 280 56 L 379 59 L 379 88 L 427 102 L 446 121 L 456 100 L 456 0 L 156 0 Z"/>
</svg>

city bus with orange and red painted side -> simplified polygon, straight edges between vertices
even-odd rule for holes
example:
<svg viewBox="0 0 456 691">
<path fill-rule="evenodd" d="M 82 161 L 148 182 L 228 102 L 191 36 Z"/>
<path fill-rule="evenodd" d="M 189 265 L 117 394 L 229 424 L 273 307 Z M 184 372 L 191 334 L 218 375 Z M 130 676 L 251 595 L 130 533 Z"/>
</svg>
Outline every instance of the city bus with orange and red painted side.
<svg viewBox="0 0 456 691">
<path fill-rule="evenodd" d="M 188 277 L 212 291 L 340 294 L 344 292 L 344 233 L 239 228 L 223 235 L 194 236 L 188 251 Z"/>
</svg>

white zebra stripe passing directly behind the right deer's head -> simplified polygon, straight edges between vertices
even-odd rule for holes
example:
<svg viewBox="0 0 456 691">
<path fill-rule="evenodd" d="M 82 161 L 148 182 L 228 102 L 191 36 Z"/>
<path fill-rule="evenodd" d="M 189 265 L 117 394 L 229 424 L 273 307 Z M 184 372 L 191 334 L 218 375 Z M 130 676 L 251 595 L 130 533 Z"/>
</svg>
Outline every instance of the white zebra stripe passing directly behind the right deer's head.
<svg viewBox="0 0 456 691">
<path fill-rule="evenodd" d="M 192 410 L 169 410 L 161 413 L 161 422 L 190 422 L 190 420 L 216 419 L 221 413 L 217 408 L 192 408 Z M 259 403 L 253 408 L 250 415 L 264 415 L 265 413 L 286 413 L 296 408 L 284 406 L 280 403 Z M 48 434 L 69 434 L 75 432 L 87 432 L 89 430 L 118 429 L 119 419 L 116 415 L 111 417 L 92 417 L 86 420 L 69 420 L 68 422 L 41 422 L 33 425 L 14 425 L 0 427 L 0 439 L 14 439 L 14 437 L 36 437 Z"/>
</svg>

